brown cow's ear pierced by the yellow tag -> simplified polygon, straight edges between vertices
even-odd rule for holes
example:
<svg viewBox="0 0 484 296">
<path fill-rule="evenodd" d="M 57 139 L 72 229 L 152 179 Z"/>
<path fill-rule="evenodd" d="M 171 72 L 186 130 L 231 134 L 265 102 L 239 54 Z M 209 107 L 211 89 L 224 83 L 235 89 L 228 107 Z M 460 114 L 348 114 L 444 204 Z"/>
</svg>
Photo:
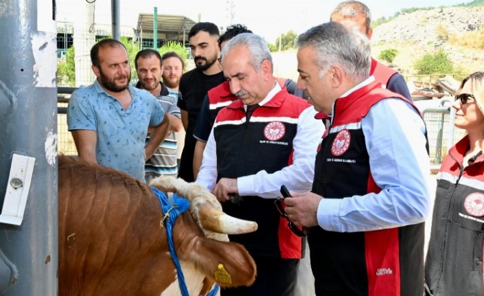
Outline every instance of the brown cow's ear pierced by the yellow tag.
<svg viewBox="0 0 484 296">
<path fill-rule="evenodd" d="M 203 236 L 193 238 L 190 252 L 183 252 L 188 260 L 207 277 L 217 282 L 221 287 L 250 286 L 255 280 L 256 267 L 249 252 L 235 242 L 219 242 Z M 220 265 L 222 264 L 222 265 Z M 220 266 L 224 273 L 230 275 L 229 280 L 220 280 L 216 273 L 220 274 Z M 227 279 L 228 277 L 224 277 Z"/>
</svg>

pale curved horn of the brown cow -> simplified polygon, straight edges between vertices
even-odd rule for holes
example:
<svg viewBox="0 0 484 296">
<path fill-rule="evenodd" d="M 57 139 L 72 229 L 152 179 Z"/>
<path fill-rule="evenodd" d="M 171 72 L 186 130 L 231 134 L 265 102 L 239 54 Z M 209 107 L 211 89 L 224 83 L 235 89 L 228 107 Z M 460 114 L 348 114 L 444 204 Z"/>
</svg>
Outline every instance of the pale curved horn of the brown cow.
<svg viewBox="0 0 484 296">
<path fill-rule="evenodd" d="M 248 234 L 257 230 L 257 223 L 234 218 L 209 205 L 200 205 L 198 217 L 204 229 L 219 234 Z"/>
</svg>

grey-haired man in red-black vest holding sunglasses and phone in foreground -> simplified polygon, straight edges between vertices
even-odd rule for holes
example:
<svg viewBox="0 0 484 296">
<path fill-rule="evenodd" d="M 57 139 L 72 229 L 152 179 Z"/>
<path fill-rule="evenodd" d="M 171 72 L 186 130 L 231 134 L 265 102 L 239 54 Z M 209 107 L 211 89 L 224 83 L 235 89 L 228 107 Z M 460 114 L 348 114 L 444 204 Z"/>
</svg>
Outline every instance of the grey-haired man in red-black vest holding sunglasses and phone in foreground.
<svg viewBox="0 0 484 296">
<path fill-rule="evenodd" d="M 316 295 L 422 295 L 430 210 L 424 120 L 369 76 L 369 40 L 356 27 L 324 23 L 298 45 L 298 88 L 330 120 L 311 192 L 285 199 L 294 223 L 310 227 Z"/>
</svg>

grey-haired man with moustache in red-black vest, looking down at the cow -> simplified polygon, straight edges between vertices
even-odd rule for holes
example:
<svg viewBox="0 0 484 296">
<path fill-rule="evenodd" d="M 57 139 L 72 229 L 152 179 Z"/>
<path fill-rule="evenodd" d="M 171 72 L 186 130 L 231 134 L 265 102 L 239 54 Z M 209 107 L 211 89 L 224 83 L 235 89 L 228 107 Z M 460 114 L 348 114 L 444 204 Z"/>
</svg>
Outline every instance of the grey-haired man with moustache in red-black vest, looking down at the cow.
<svg viewBox="0 0 484 296">
<path fill-rule="evenodd" d="M 272 56 L 260 36 L 232 38 L 222 49 L 222 66 L 238 100 L 218 112 L 196 182 L 211 190 L 224 212 L 259 225 L 252 234 L 229 236 L 254 258 L 255 283 L 222 290 L 222 296 L 292 296 L 301 238 L 274 201 L 282 184 L 293 192 L 310 190 L 324 127 L 306 100 L 276 82 Z"/>
</svg>

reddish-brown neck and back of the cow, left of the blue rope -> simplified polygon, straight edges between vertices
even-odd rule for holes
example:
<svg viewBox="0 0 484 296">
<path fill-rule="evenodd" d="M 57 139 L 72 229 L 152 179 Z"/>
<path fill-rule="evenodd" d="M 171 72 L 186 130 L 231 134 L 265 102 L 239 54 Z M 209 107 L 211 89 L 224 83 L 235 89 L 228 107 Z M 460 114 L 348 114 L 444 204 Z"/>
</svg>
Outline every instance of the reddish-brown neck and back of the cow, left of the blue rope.
<svg viewBox="0 0 484 296">
<path fill-rule="evenodd" d="M 148 185 L 76 157 L 58 176 L 59 295 L 160 295 L 175 273 Z"/>
</svg>

